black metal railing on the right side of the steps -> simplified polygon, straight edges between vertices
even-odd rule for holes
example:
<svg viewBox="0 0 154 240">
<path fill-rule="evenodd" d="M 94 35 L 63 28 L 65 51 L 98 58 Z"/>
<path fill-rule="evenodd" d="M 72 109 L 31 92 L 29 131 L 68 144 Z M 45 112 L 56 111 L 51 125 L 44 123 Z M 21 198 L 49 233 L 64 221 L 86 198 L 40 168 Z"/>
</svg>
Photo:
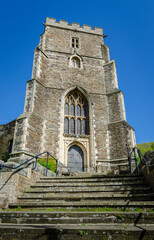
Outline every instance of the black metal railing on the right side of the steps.
<svg viewBox="0 0 154 240">
<path fill-rule="evenodd" d="M 150 167 L 151 164 L 150 162 L 144 157 L 144 155 L 141 153 L 140 149 L 138 149 L 136 146 L 130 150 L 128 147 L 128 144 L 126 144 L 127 146 L 127 153 L 128 153 L 128 165 L 129 165 L 129 171 L 130 173 L 132 172 L 132 160 L 135 160 L 135 171 L 137 173 L 139 173 L 139 168 L 138 165 L 141 163 L 142 165 L 146 165 L 147 167 Z M 139 161 L 137 159 L 137 154 L 139 157 Z M 133 156 L 133 159 L 132 159 Z"/>
</svg>

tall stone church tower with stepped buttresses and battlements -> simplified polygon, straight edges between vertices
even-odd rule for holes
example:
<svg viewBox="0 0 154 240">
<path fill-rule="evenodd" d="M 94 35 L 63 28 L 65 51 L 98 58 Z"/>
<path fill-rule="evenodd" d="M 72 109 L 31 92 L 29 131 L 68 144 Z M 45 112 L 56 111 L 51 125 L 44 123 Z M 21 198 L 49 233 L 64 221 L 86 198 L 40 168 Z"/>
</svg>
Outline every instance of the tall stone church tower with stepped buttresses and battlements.
<svg viewBox="0 0 154 240">
<path fill-rule="evenodd" d="M 49 151 L 73 171 L 110 171 L 135 145 L 103 29 L 47 18 L 11 160 Z"/>
</svg>

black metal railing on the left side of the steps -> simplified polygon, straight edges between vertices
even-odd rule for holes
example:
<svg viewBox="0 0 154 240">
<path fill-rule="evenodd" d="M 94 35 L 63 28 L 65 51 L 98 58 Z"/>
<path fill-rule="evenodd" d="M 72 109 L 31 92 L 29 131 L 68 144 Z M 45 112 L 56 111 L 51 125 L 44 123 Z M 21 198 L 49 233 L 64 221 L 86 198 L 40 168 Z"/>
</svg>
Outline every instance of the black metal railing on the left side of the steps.
<svg viewBox="0 0 154 240">
<path fill-rule="evenodd" d="M 25 164 L 28 164 L 28 166 L 29 166 L 29 165 L 31 164 L 31 161 L 34 160 L 34 159 L 35 159 L 35 163 L 34 163 L 34 167 L 32 168 L 32 170 L 35 170 L 36 167 L 37 167 L 38 159 L 39 159 L 39 157 L 40 157 L 41 155 L 43 155 L 43 154 L 47 154 L 46 176 L 47 176 L 47 174 L 48 174 L 49 157 L 51 157 L 52 159 L 54 159 L 55 162 L 56 162 L 56 166 L 53 167 L 52 169 L 55 169 L 55 168 L 56 168 L 56 176 L 57 176 L 57 175 L 58 175 L 58 171 L 57 171 L 57 168 L 58 168 L 58 160 L 57 160 L 53 155 L 51 155 L 49 152 L 43 152 L 43 153 L 37 154 L 37 155 L 35 155 L 34 157 L 26 160 L 25 162 L 19 164 L 19 165 L 16 166 L 16 167 L 7 166 L 7 165 L 5 165 L 5 164 L 3 164 L 3 163 L 0 163 L 0 172 L 2 171 L 3 168 L 9 168 L 9 169 L 17 170 L 17 169 L 19 169 L 21 166 L 23 166 L 23 165 L 25 165 Z"/>
</svg>

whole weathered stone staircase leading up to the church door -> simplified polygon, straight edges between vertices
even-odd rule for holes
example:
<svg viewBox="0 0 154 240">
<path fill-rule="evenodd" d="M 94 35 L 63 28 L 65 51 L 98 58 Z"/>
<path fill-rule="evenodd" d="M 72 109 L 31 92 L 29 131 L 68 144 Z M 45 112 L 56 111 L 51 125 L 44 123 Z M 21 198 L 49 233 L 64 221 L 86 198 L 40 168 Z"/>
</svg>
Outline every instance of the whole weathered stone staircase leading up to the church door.
<svg viewBox="0 0 154 240">
<path fill-rule="evenodd" d="M 152 240 L 153 206 L 141 175 L 43 177 L 0 212 L 0 239 Z"/>
</svg>

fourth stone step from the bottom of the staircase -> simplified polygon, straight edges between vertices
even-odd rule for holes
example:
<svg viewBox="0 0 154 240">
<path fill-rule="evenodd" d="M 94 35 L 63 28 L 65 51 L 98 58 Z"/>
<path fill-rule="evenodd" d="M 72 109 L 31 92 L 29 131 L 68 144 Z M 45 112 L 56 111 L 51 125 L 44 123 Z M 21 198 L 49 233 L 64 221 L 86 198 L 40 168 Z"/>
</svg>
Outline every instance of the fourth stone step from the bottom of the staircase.
<svg viewBox="0 0 154 240">
<path fill-rule="evenodd" d="M 30 200 L 81 200 L 81 199 L 91 199 L 91 200 L 105 200 L 105 199 L 117 199 L 117 200 L 121 200 L 121 199 L 125 199 L 125 200 L 136 200 L 136 201 L 144 201 L 144 200 L 154 200 L 154 193 L 128 193 L 128 194 L 120 194 L 120 193 L 113 193 L 113 192 L 108 192 L 108 193 L 91 193 L 91 192 L 87 192 L 87 193 L 47 193 L 47 194 L 25 194 L 22 197 L 18 197 L 18 200 L 22 201 L 22 200 L 26 200 L 26 201 L 30 201 Z"/>
</svg>

